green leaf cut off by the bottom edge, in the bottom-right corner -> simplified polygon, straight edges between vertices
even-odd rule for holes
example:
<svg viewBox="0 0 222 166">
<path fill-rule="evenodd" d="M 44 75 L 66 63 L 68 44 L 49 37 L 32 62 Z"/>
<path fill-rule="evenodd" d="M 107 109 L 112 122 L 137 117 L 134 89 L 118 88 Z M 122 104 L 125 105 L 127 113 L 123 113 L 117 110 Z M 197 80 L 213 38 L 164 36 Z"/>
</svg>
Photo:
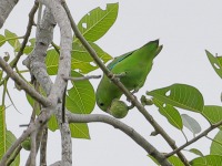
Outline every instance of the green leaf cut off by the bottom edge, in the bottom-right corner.
<svg viewBox="0 0 222 166">
<path fill-rule="evenodd" d="M 208 155 L 204 157 L 198 157 L 190 162 L 191 166 L 221 166 L 222 156 Z"/>
</svg>

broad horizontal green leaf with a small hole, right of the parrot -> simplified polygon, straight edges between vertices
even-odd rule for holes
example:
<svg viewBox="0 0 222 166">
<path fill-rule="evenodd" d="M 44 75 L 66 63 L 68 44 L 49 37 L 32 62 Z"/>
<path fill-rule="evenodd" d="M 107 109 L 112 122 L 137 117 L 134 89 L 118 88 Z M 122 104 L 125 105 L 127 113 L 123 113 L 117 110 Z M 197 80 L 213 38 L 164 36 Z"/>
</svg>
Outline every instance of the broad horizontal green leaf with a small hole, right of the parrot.
<svg viewBox="0 0 222 166">
<path fill-rule="evenodd" d="M 165 104 L 170 104 L 180 108 L 199 113 L 203 110 L 202 94 L 198 89 L 190 85 L 173 84 L 163 89 L 153 90 L 147 94 Z"/>
</svg>

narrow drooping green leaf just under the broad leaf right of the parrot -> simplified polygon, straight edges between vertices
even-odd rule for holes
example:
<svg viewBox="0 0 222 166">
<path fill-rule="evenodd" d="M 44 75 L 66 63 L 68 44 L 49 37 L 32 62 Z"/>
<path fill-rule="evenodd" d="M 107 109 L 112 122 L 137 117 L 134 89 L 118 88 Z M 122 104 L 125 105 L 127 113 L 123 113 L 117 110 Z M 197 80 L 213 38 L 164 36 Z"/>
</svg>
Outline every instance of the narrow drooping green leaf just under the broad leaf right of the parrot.
<svg viewBox="0 0 222 166">
<path fill-rule="evenodd" d="M 183 128 L 182 118 L 176 108 L 161 101 L 153 98 L 153 103 L 159 107 L 159 112 L 168 118 L 169 123 L 178 129 Z"/>
</svg>

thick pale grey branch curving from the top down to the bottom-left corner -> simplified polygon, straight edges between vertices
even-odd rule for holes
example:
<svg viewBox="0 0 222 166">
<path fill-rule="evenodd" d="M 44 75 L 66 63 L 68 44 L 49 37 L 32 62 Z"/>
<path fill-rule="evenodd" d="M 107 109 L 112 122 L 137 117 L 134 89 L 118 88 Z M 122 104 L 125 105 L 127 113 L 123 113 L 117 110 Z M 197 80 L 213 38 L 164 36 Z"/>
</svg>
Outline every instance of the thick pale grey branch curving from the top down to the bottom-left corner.
<svg viewBox="0 0 222 166">
<path fill-rule="evenodd" d="M 71 51 L 71 43 L 72 43 L 72 32 L 71 32 L 71 27 L 70 27 L 68 18 L 64 17 L 65 14 L 61 13 L 61 12 L 63 13 L 65 12 L 60 7 L 61 4 L 59 3 L 59 0 L 39 0 L 39 2 L 42 2 L 48 8 L 50 8 L 54 20 L 58 22 L 61 30 L 61 43 L 60 43 L 61 54 L 60 54 L 58 76 L 56 77 L 56 82 L 51 87 L 49 97 L 46 100 L 46 101 L 49 100 L 51 102 L 51 105 L 49 106 L 47 105 L 48 103 L 46 104 L 48 107 L 42 108 L 41 114 L 38 116 L 34 123 L 31 124 L 26 129 L 26 132 L 14 142 L 14 144 L 3 155 L 0 162 L 0 166 L 4 166 L 7 159 L 10 157 L 10 154 L 12 154 L 12 152 L 19 146 L 19 144 L 23 142 L 32 132 L 38 131 L 42 125 L 44 125 L 48 122 L 48 120 L 51 117 L 51 115 L 56 112 L 58 100 L 62 98 L 62 94 L 67 85 L 65 81 L 63 80 L 63 76 L 69 76 L 69 73 L 70 73 L 70 66 L 71 66 L 70 51 Z M 1 62 L 4 62 L 4 61 L 1 61 Z M 16 75 L 14 73 L 11 74 L 9 72 L 8 74 L 10 74 L 10 76 L 14 79 L 14 75 Z M 21 83 L 23 83 L 22 81 Z M 24 84 L 23 86 L 26 87 L 27 85 Z"/>
</svg>

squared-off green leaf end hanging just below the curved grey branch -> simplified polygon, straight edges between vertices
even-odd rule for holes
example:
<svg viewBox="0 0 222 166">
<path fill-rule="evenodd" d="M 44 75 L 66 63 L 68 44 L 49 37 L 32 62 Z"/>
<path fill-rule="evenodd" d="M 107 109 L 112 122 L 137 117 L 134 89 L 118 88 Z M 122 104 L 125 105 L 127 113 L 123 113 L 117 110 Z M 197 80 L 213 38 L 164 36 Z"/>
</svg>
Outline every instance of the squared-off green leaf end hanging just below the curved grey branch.
<svg viewBox="0 0 222 166">
<path fill-rule="evenodd" d="M 70 131 L 74 138 L 90 139 L 89 127 L 85 123 L 71 123 Z"/>
</svg>

